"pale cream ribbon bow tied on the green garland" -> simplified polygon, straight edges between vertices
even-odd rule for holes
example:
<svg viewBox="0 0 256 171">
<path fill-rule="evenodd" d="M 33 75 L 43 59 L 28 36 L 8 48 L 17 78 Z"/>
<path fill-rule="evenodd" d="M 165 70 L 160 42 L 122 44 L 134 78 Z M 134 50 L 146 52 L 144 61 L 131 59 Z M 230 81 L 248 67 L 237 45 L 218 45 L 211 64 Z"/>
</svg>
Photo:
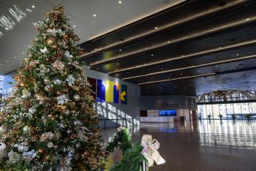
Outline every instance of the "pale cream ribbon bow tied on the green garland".
<svg viewBox="0 0 256 171">
<path fill-rule="evenodd" d="M 153 166 L 154 161 L 156 161 L 157 164 L 165 163 L 165 159 L 163 159 L 157 151 L 160 147 L 160 143 L 156 139 L 152 140 L 151 135 L 143 134 L 140 145 L 143 146 L 142 155 L 148 160 L 147 167 Z"/>
</svg>

